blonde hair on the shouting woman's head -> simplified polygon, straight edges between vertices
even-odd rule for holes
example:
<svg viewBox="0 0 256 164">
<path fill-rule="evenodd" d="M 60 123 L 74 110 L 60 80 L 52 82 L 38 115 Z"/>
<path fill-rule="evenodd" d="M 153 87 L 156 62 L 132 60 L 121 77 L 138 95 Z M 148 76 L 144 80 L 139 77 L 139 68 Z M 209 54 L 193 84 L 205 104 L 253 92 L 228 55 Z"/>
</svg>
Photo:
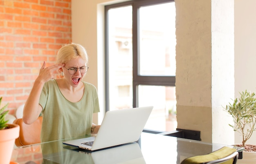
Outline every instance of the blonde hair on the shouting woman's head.
<svg viewBox="0 0 256 164">
<path fill-rule="evenodd" d="M 71 59 L 81 57 L 85 60 L 85 64 L 88 64 L 88 55 L 83 46 L 76 43 L 65 44 L 58 50 L 57 63 L 67 63 Z"/>
</svg>

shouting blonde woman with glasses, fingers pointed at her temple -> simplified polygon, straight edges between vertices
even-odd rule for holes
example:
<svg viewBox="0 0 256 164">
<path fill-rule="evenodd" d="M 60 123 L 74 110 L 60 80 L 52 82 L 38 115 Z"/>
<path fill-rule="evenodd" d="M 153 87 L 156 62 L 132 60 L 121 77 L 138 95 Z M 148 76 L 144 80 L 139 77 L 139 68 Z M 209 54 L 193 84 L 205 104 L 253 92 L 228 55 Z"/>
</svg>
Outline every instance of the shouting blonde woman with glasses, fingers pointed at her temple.
<svg viewBox="0 0 256 164">
<path fill-rule="evenodd" d="M 88 55 L 80 44 L 66 44 L 59 49 L 57 63 L 45 67 L 34 82 L 23 110 L 23 121 L 32 124 L 42 113 L 41 142 L 97 134 L 92 123 L 99 112 L 98 93 L 82 79 L 88 71 Z M 63 78 L 54 78 L 56 71 Z"/>
</svg>

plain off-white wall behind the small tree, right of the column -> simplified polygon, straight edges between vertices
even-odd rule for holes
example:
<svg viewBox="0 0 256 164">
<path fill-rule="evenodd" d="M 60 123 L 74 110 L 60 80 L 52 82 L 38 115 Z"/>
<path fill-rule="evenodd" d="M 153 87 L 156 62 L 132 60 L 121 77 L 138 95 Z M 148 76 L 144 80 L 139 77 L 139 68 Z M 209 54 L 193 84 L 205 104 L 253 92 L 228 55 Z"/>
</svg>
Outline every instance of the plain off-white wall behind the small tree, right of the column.
<svg viewBox="0 0 256 164">
<path fill-rule="evenodd" d="M 235 98 L 256 91 L 256 0 L 235 0 Z M 246 144 L 256 144 L 256 132 Z M 235 142 L 242 137 L 236 133 Z"/>
</svg>

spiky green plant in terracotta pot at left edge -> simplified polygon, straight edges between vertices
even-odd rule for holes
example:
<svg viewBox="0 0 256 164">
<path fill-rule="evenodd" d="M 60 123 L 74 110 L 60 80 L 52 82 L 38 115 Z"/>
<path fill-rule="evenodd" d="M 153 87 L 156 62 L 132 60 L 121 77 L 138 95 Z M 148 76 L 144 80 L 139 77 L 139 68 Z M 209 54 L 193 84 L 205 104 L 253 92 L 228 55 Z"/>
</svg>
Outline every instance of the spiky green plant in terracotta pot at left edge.
<svg viewBox="0 0 256 164">
<path fill-rule="evenodd" d="M 1 105 L 2 97 L 0 98 Z M 9 111 L 4 111 L 9 103 L 0 109 L 0 164 L 10 164 L 11 154 L 15 139 L 19 137 L 20 126 L 7 124 L 5 116 Z"/>
</svg>

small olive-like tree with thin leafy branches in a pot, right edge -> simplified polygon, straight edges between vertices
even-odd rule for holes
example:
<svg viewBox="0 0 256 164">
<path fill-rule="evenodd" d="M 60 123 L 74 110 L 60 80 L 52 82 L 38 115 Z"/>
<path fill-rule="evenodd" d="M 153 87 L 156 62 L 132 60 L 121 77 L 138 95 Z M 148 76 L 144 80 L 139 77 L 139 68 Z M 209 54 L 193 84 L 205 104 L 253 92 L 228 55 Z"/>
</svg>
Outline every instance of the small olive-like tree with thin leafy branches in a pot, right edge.
<svg viewBox="0 0 256 164">
<path fill-rule="evenodd" d="M 234 131 L 240 133 L 243 137 L 241 144 L 236 146 L 245 147 L 243 159 L 238 160 L 238 164 L 255 164 L 256 163 L 256 145 L 245 144 L 256 130 L 256 96 L 255 93 L 240 93 L 239 100 L 236 98 L 232 103 L 225 107 L 234 120 L 234 125 L 229 124 Z M 247 153 L 249 152 L 249 153 Z M 253 159 L 252 159 L 253 158 Z"/>
</svg>

